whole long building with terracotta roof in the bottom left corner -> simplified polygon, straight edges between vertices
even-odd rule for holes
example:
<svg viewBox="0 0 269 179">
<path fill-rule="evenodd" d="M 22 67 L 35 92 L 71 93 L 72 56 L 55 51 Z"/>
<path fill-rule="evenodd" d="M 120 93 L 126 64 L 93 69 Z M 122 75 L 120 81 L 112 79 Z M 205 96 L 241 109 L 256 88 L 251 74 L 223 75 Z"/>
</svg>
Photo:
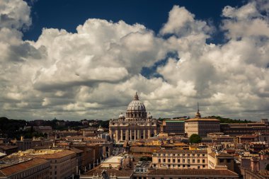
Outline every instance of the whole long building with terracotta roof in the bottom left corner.
<svg viewBox="0 0 269 179">
<path fill-rule="evenodd" d="M 43 158 L 4 158 L 0 164 L 0 178 L 49 179 L 50 161 Z"/>
</svg>

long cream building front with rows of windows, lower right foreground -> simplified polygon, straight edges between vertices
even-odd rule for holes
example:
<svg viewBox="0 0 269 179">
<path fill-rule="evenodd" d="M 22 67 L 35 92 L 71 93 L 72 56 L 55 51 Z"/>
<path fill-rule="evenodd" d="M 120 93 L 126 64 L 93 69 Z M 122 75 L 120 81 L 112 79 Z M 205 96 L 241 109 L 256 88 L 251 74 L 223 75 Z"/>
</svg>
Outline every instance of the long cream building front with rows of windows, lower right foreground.
<svg viewBox="0 0 269 179">
<path fill-rule="evenodd" d="M 207 168 L 207 150 L 159 150 L 152 154 L 153 168 Z"/>
</svg>

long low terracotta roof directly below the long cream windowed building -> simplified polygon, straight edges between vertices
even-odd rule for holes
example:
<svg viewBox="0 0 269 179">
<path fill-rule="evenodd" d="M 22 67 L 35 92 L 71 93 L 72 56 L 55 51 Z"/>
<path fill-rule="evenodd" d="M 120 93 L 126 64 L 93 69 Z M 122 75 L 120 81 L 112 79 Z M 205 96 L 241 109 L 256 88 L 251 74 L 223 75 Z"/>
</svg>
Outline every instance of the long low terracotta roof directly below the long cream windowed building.
<svg viewBox="0 0 269 179">
<path fill-rule="evenodd" d="M 149 172 L 148 176 L 165 176 L 165 175 L 194 175 L 194 176 L 238 176 L 236 173 L 229 170 L 214 170 L 214 169 L 158 169 Z"/>
</svg>

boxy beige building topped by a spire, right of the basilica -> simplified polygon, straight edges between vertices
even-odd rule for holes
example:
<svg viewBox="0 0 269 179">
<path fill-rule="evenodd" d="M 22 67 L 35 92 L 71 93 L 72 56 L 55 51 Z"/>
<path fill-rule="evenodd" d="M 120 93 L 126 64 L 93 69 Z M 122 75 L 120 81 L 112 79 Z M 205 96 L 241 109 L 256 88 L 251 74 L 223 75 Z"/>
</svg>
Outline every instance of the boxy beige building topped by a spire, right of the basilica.
<svg viewBox="0 0 269 179">
<path fill-rule="evenodd" d="M 200 137 L 206 137 L 208 133 L 220 132 L 219 120 L 202 118 L 200 112 L 195 118 L 185 120 L 185 133 L 190 137 L 192 134 L 198 134 Z"/>
</svg>

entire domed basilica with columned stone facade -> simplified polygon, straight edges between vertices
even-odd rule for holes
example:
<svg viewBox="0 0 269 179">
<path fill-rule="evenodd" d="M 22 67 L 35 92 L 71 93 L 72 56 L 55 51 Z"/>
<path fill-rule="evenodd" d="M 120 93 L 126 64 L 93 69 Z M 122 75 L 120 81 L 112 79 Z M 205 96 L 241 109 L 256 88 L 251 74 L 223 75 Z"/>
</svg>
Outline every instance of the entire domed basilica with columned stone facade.
<svg viewBox="0 0 269 179">
<path fill-rule="evenodd" d="M 109 134 L 115 142 L 125 140 L 149 139 L 157 133 L 156 119 L 147 114 L 144 104 L 137 93 L 127 107 L 126 115 L 110 120 Z"/>
</svg>

